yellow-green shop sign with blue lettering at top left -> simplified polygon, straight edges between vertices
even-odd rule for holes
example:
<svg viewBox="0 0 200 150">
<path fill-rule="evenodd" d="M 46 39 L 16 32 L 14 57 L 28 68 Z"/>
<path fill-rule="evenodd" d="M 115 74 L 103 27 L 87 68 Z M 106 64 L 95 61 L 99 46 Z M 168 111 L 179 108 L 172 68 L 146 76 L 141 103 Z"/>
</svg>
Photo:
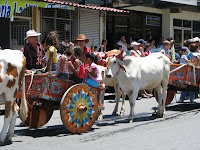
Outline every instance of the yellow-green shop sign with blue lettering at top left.
<svg viewBox="0 0 200 150">
<path fill-rule="evenodd" d="M 28 7 L 41 7 L 41 8 L 60 8 L 67 10 L 74 10 L 74 6 L 36 2 L 29 0 L 1 0 L 0 1 L 0 17 L 11 18 L 14 13 L 21 13 Z"/>
</svg>

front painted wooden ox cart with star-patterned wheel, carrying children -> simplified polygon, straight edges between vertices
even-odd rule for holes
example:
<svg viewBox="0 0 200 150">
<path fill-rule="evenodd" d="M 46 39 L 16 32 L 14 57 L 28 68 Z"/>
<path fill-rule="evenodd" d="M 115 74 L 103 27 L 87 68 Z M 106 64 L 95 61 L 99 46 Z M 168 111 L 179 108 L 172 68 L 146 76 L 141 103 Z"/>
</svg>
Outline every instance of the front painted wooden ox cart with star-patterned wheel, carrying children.
<svg viewBox="0 0 200 150">
<path fill-rule="evenodd" d="M 64 126 L 73 133 L 83 133 L 92 127 L 98 116 L 101 90 L 86 84 L 59 79 L 47 74 L 25 76 L 28 118 L 30 128 L 39 128 L 51 118 L 53 111 L 60 109 Z M 21 99 L 21 91 L 17 98 Z"/>
</svg>

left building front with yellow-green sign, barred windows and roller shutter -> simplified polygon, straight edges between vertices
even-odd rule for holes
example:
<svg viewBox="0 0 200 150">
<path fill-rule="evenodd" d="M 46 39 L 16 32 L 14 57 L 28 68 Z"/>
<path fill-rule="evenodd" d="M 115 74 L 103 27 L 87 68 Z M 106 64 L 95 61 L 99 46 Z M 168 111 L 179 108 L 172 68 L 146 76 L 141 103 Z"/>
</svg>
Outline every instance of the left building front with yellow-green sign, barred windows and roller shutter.
<svg viewBox="0 0 200 150">
<path fill-rule="evenodd" d="M 107 12 L 126 11 L 104 7 L 104 1 L 15 0 L 0 2 L 0 45 L 19 49 L 25 44 L 25 33 L 30 29 L 41 32 L 40 41 L 52 30 L 60 41 L 73 41 L 80 33 L 90 39 L 88 46 L 99 46 L 106 38 Z"/>
</svg>

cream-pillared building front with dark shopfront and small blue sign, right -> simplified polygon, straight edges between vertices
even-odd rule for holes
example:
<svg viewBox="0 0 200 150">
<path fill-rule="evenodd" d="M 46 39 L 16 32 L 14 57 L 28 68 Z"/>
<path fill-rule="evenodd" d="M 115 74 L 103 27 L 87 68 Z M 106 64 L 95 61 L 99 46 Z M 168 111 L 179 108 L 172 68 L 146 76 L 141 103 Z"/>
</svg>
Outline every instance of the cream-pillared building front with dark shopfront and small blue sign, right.
<svg viewBox="0 0 200 150">
<path fill-rule="evenodd" d="M 200 11 L 197 0 L 116 0 L 113 6 L 130 11 L 127 19 L 120 19 L 119 16 L 112 19 L 115 24 L 113 26 L 118 26 L 116 20 L 124 22 L 121 23 L 120 30 L 115 30 L 116 39 L 119 38 L 120 32 L 125 31 L 128 42 L 139 38 L 155 39 L 158 42 L 163 36 L 165 39 L 173 37 L 179 46 L 185 39 L 200 37 Z"/>
</svg>

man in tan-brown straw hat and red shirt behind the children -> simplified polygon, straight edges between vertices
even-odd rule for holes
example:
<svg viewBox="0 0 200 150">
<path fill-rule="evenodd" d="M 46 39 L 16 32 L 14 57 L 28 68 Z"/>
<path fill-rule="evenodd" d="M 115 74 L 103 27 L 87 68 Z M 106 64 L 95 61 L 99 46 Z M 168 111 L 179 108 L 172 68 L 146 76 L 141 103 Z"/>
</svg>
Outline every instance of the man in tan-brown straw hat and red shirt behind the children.
<svg viewBox="0 0 200 150">
<path fill-rule="evenodd" d="M 89 39 L 86 38 L 85 34 L 79 34 L 77 38 L 74 40 L 74 44 L 78 45 L 82 51 L 82 58 L 83 62 L 85 63 L 85 55 L 87 53 L 91 53 L 91 49 L 86 46 L 86 44 L 89 42 Z"/>
</svg>

